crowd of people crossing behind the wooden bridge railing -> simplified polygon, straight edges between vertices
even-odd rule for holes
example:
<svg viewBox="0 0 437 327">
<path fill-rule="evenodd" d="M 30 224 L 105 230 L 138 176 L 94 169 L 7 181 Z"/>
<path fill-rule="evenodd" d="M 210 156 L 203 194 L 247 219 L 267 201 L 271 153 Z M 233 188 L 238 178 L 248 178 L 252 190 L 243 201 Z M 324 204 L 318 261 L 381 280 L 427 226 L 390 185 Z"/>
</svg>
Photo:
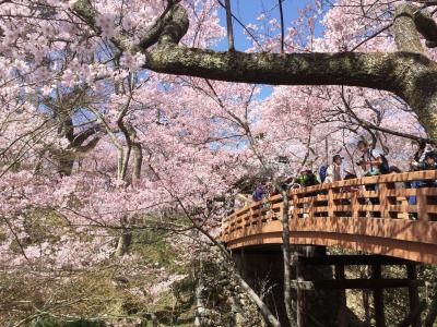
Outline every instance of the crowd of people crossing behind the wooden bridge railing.
<svg viewBox="0 0 437 327">
<path fill-rule="evenodd" d="M 358 141 L 357 152 L 359 153 L 359 160 L 355 162 L 359 167 L 361 177 L 373 177 L 388 173 L 400 173 L 402 172 L 395 166 L 390 166 L 382 150 L 377 148 L 371 148 L 366 141 Z M 332 161 L 329 165 L 323 165 L 319 168 L 318 172 L 311 169 L 305 169 L 300 172 L 299 177 L 288 178 L 283 181 L 282 187 L 293 189 L 293 187 L 306 187 L 311 185 L 317 185 L 320 183 L 332 183 L 341 180 L 350 180 L 357 178 L 357 174 L 349 169 L 343 169 L 344 158 L 340 154 L 335 154 L 332 157 Z M 418 170 L 436 170 L 437 169 L 437 153 L 430 147 L 429 144 L 424 142 L 418 143 L 418 149 L 414 157 L 409 162 L 409 171 Z M 436 187 L 436 181 L 413 181 L 409 183 L 402 183 L 397 185 L 397 187 Z M 365 185 L 366 191 L 377 191 L 377 184 Z M 358 191 L 358 187 L 350 186 L 343 187 L 343 192 Z M 259 202 L 264 198 L 276 194 L 277 190 L 271 181 L 257 185 L 251 197 L 243 196 L 245 205 L 250 202 Z M 239 195 L 241 196 L 241 195 Z M 408 198 L 410 205 L 416 204 L 415 196 L 410 196 Z M 378 198 L 369 198 L 369 202 L 374 205 L 379 204 Z M 414 216 L 414 215 L 413 215 Z"/>
</svg>

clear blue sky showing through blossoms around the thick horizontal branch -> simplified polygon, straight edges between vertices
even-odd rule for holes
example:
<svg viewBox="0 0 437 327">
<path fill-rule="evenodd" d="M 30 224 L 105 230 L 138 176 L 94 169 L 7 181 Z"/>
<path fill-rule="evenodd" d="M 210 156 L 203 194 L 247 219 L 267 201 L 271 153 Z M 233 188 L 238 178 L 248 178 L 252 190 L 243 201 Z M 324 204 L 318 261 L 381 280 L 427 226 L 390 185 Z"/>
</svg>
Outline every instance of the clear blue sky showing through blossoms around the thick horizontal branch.
<svg viewBox="0 0 437 327">
<path fill-rule="evenodd" d="M 225 0 L 222 0 L 224 3 Z M 311 0 L 283 0 L 284 22 L 285 28 L 291 26 L 292 21 L 298 16 L 298 9 L 304 8 L 306 4 L 311 3 Z M 268 20 L 276 19 L 280 22 L 280 11 L 277 0 L 231 0 L 233 14 L 245 25 L 256 23 L 257 17 L 261 13 L 265 13 Z M 220 11 L 220 20 L 223 26 L 226 26 L 226 15 L 224 9 Z M 238 51 L 245 51 L 251 47 L 251 41 L 244 34 L 243 27 L 234 20 L 234 37 L 235 48 Z M 316 35 L 320 35 L 320 25 L 316 28 Z M 227 39 L 224 38 L 220 44 L 214 47 L 215 50 L 227 50 Z M 271 86 L 263 86 L 260 98 L 268 97 L 272 92 Z"/>
</svg>

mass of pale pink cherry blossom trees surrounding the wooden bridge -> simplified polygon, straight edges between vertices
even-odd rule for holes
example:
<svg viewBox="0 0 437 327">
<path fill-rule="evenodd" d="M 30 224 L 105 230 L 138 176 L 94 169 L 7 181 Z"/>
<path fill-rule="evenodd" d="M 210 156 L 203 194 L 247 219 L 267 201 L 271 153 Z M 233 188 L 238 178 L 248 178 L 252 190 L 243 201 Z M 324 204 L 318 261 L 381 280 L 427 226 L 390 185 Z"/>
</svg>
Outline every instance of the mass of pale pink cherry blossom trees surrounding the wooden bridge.
<svg viewBox="0 0 437 327">
<path fill-rule="evenodd" d="M 142 256 L 146 231 L 165 231 L 182 266 L 189 250 L 221 246 L 223 198 L 238 181 L 316 169 L 324 140 L 353 162 L 352 143 L 366 135 L 395 164 L 413 150 L 399 137 L 435 142 L 436 55 L 424 47 L 437 41 L 433 1 L 320 1 L 290 28 L 261 13 L 244 26 L 253 41 L 245 52 L 235 49 L 229 7 L 221 26 L 226 3 L 0 1 L 5 276 L 36 276 L 54 291 L 115 269 L 134 280 L 127 293 L 150 304 L 186 276 Z M 229 50 L 213 50 L 226 35 Z M 282 86 L 262 99 L 260 83 Z M 56 314 L 66 301 L 57 299 L 40 314 Z M 15 300 L 4 299 L 9 307 Z M 19 312 L 17 324 L 38 315 Z"/>
</svg>

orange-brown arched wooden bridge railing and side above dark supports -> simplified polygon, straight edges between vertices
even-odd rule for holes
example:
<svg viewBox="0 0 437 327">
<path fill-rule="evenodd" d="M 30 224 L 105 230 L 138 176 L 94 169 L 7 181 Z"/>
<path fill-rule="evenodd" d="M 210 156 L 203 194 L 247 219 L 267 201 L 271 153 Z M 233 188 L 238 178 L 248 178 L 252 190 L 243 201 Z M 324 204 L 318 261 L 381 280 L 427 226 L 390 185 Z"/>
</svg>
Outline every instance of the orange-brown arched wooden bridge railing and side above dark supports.
<svg viewBox="0 0 437 327">
<path fill-rule="evenodd" d="M 417 171 L 291 190 L 290 242 L 437 265 L 437 187 L 405 187 L 435 180 L 437 171 Z M 222 240 L 231 249 L 281 244 L 283 209 L 281 195 L 241 208 L 224 219 Z"/>
</svg>

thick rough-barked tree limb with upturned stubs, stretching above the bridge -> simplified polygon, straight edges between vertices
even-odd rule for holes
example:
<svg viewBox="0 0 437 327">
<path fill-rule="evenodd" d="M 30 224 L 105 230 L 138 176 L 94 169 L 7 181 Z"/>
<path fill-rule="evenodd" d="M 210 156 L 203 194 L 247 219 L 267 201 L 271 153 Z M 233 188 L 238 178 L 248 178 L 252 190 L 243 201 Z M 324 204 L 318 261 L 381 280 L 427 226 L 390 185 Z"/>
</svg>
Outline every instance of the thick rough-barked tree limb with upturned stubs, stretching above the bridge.
<svg viewBox="0 0 437 327">
<path fill-rule="evenodd" d="M 79 2 L 87 3 L 86 0 Z M 434 40 L 435 23 L 418 7 L 402 4 L 395 12 L 393 27 L 399 52 L 277 55 L 178 46 L 188 31 L 188 15 L 177 1 L 168 3 L 153 31 L 140 44 L 140 51 L 146 57 L 145 69 L 227 82 L 349 85 L 388 90 L 405 100 L 430 137 L 437 140 L 437 64 L 424 55 L 417 32 Z M 92 22 L 90 14 L 82 16 Z M 150 50 L 155 43 L 157 47 Z"/>
</svg>

